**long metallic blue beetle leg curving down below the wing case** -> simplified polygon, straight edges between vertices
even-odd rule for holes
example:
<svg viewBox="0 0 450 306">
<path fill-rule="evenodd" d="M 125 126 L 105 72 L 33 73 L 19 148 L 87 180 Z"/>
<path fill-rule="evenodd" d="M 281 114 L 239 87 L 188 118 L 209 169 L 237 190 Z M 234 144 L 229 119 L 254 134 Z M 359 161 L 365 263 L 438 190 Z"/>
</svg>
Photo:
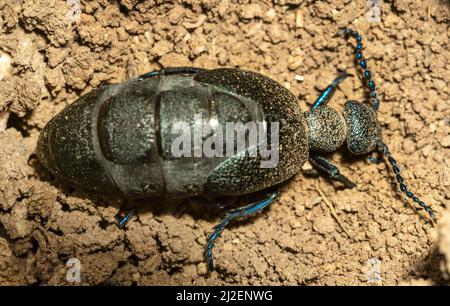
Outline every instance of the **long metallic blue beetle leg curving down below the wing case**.
<svg viewBox="0 0 450 306">
<path fill-rule="evenodd" d="M 264 200 L 249 204 L 244 207 L 231 209 L 227 212 L 222 221 L 214 226 L 214 231 L 208 236 L 207 244 L 205 247 L 205 257 L 208 273 L 210 273 L 213 269 L 212 249 L 214 247 L 214 244 L 216 243 L 217 239 L 220 237 L 220 234 L 223 232 L 228 223 L 233 219 L 246 217 L 261 211 L 265 207 L 269 206 L 277 196 L 278 191 L 271 192 L 267 194 L 267 197 Z"/>
</svg>

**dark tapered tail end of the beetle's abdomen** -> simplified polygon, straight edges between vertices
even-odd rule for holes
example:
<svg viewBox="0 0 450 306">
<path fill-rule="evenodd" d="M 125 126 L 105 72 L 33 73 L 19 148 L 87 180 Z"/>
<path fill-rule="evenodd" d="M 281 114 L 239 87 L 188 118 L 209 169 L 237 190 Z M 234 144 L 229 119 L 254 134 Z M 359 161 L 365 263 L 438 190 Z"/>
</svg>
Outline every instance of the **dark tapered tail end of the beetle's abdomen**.
<svg viewBox="0 0 450 306">
<path fill-rule="evenodd" d="M 95 100 L 107 88 L 90 92 L 66 107 L 47 123 L 39 136 L 37 155 L 56 177 L 72 185 L 116 194 L 116 188 L 95 146 L 92 127 Z"/>
</svg>

